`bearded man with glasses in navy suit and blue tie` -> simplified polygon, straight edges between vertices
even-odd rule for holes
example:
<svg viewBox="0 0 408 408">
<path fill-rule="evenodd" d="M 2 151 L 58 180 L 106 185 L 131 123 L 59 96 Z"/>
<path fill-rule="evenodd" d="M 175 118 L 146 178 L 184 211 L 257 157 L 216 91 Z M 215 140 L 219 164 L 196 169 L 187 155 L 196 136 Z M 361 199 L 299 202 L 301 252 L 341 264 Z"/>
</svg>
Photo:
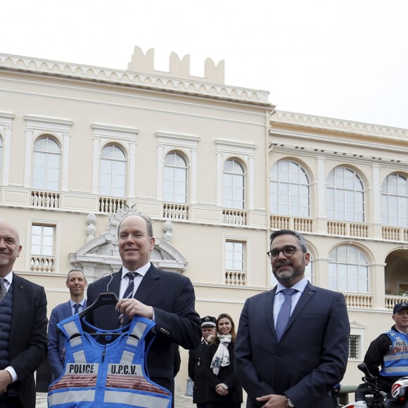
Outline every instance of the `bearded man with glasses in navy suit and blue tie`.
<svg viewBox="0 0 408 408">
<path fill-rule="evenodd" d="M 246 300 L 236 337 L 247 407 L 332 407 L 348 360 L 345 298 L 305 279 L 310 254 L 298 232 L 275 231 L 270 248 L 278 285 Z"/>
</svg>

